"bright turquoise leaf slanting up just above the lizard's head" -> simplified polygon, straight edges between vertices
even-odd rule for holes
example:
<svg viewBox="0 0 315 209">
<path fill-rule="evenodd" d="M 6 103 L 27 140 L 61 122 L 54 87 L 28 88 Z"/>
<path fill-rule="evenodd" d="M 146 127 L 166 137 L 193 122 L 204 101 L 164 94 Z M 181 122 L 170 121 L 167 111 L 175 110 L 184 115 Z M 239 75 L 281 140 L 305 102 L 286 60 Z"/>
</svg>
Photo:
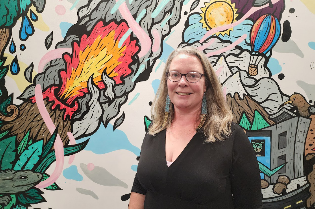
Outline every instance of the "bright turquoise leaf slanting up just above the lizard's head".
<svg viewBox="0 0 315 209">
<path fill-rule="evenodd" d="M 43 140 L 37 141 L 24 150 L 13 170 L 31 170 L 38 162 L 43 151 Z"/>
</svg>

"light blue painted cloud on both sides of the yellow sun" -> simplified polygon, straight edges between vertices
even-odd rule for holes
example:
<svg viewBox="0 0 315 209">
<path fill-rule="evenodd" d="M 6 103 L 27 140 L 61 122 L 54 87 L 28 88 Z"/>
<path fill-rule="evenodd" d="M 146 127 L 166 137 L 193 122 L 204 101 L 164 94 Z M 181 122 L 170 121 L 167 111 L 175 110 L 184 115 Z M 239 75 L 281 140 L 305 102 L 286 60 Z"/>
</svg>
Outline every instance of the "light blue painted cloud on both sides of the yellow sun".
<svg viewBox="0 0 315 209">
<path fill-rule="evenodd" d="M 202 28 L 203 24 L 199 21 L 201 20 L 201 16 L 199 14 L 193 14 L 189 16 L 188 24 L 189 26 L 186 28 L 183 34 L 183 38 L 185 42 L 193 43 L 195 41 L 200 41 L 200 39 L 206 34 L 206 29 Z M 222 36 L 219 35 L 221 39 L 235 42 L 240 38 L 243 34 L 247 34 L 247 37 L 244 41 L 242 41 L 238 46 L 243 49 L 250 49 L 250 41 L 249 41 L 249 32 L 253 25 L 253 22 L 249 19 L 244 20 L 239 25 L 233 27 L 233 31 L 230 31 L 230 36 Z M 246 41 L 246 42 L 245 42 Z"/>
</svg>

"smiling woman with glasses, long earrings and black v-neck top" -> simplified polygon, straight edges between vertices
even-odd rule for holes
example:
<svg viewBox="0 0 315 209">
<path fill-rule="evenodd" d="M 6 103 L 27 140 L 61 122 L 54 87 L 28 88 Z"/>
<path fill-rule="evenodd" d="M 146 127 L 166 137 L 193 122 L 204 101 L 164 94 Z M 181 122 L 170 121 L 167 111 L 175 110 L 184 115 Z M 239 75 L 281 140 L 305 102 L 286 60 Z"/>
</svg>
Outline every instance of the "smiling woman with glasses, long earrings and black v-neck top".
<svg viewBox="0 0 315 209">
<path fill-rule="evenodd" d="M 169 55 L 129 209 L 262 208 L 255 152 L 221 88 L 199 50 Z"/>
</svg>

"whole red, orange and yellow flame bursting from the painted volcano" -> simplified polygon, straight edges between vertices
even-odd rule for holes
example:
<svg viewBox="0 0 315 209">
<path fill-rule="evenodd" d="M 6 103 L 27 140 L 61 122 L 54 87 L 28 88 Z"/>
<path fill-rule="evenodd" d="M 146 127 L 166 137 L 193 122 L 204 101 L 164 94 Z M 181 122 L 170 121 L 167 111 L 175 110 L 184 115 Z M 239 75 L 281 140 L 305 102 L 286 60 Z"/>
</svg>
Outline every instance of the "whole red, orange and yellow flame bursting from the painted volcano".
<svg viewBox="0 0 315 209">
<path fill-rule="evenodd" d="M 133 55 L 138 51 L 136 41 L 130 41 L 130 35 L 121 47 L 118 43 L 127 32 L 128 26 L 122 22 L 117 25 L 111 22 L 104 26 L 102 21 L 95 25 L 91 35 L 83 35 L 80 47 L 73 43 L 72 58 L 64 55 L 67 70 L 61 71 L 62 86 L 58 93 L 59 98 L 71 104 L 78 96 L 87 93 L 87 82 L 93 75 L 93 81 L 100 89 L 105 88 L 102 82 L 102 73 L 115 80 L 116 84 L 122 83 L 121 77 L 129 75 L 132 70 Z"/>
</svg>

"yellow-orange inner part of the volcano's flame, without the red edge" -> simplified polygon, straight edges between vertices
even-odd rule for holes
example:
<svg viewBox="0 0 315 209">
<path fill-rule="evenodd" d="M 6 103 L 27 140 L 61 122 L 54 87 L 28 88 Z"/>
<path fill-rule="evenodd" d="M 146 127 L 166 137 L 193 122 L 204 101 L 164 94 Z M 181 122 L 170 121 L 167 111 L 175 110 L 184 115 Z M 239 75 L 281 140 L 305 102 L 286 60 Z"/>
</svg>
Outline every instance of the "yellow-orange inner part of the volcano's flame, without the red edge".
<svg viewBox="0 0 315 209">
<path fill-rule="evenodd" d="M 118 40 L 115 40 L 115 31 L 111 31 L 106 37 L 98 36 L 91 46 L 86 46 L 84 51 L 79 52 L 79 64 L 77 69 L 72 69 L 72 74 L 66 82 L 66 89 L 61 98 L 68 99 L 79 94 L 79 90 L 87 88 L 89 77 L 93 75 L 96 85 L 101 81 L 102 72 L 107 68 L 109 77 L 117 76 L 114 69 L 121 62 L 118 58 L 123 56 L 126 46 L 119 48 Z"/>
</svg>

